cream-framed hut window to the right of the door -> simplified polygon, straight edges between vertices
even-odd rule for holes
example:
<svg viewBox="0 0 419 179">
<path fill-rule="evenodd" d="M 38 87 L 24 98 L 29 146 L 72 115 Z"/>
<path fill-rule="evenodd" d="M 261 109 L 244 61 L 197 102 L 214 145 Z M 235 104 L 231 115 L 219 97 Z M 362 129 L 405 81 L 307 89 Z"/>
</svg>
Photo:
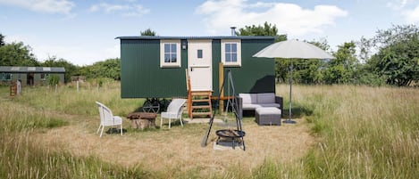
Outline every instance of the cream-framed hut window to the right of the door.
<svg viewBox="0 0 419 179">
<path fill-rule="evenodd" d="M 241 66 L 241 44 L 239 39 L 222 40 L 222 63 L 224 66 Z"/>
</svg>

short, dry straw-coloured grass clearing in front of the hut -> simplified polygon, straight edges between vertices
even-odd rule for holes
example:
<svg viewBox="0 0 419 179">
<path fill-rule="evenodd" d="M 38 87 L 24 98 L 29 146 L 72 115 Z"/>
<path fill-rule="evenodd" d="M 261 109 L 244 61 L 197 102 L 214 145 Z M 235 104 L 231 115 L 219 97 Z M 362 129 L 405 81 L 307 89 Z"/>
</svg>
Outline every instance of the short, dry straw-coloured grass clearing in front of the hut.
<svg viewBox="0 0 419 179">
<path fill-rule="evenodd" d="M 289 164 L 298 162 L 314 143 L 308 133 L 304 119 L 297 125 L 257 126 L 253 118 L 247 118 L 243 129 L 246 151 L 214 151 L 215 130 L 221 129 L 214 123 L 212 134 L 205 148 L 200 146 L 208 124 L 187 124 L 172 129 L 148 131 L 130 130 L 130 120 L 124 119 L 124 128 L 129 132 L 96 134 L 98 117 L 68 116 L 69 126 L 37 133 L 32 140 L 42 143 L 46 149 L 70 151 L 77 156 L 97 156 L 105 161 L 132 167 L 141 166 L 147 171 L 185 173 L 196 171 L 199 175 L 223 174 L 230 167 L 239 167 L 250 172 L 263 164 L 265 159 Z"/>
</svg>

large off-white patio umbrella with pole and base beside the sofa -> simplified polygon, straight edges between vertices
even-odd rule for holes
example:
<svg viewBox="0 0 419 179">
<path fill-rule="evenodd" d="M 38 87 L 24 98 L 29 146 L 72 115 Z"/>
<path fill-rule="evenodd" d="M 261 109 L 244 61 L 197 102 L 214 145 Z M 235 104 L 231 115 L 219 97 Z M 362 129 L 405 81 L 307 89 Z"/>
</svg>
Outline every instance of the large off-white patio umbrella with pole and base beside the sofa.
<svg viewBox="0 0 419 179">
<path fill-rule="evenodd" d="M 291 94 L 292 94 L 292 60 L 295 59 L 334 59 L 331 54 L 326 53 L 323 49 L 298 40 L 281 41 L 269 46 L 253 55 L 254 57 L 264 58 L 281 58 L 291 61 L 289 76 L 289 118 L 284 123 L 296 123 L 291 120 Z"/>
</svg>

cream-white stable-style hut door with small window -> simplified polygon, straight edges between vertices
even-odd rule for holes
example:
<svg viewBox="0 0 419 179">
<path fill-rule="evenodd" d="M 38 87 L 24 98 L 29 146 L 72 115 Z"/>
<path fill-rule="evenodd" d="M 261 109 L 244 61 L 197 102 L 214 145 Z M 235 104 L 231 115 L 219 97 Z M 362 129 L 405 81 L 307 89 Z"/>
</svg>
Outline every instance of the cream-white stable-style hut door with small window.
<svg viewBox="0 0 419 179">
<path fill-rule="evenodd" d="M 188 41 L 188 69 L 192 91 L 213 90 L 211 40 Z"/>
</svg>

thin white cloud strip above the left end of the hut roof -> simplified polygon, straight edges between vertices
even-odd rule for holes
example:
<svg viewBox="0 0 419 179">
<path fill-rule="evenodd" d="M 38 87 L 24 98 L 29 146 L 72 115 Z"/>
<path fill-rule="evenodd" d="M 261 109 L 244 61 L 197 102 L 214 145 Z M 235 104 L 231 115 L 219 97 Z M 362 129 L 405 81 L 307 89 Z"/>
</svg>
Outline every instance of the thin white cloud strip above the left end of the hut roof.
<svg viewBox="0 0 419 179">
<path fill-rule="evenodd" d="M 140 17 L 150 12 L 141 4 L 94 4 L 90 6 L 90 12 L 119 13 L 122 16 Z"/>
</svg>

